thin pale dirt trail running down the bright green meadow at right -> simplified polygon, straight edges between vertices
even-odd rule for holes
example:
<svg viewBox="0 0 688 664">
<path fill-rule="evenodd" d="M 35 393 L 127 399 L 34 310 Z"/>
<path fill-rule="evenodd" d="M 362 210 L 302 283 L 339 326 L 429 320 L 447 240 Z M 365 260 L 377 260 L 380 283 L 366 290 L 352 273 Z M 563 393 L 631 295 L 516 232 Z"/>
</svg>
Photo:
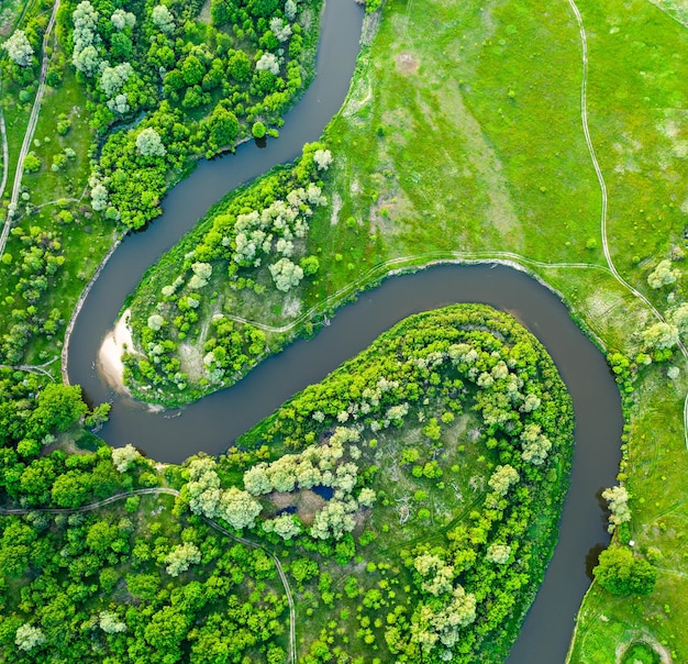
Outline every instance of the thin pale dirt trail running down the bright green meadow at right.
<svg viewBox="0 0 688 664">
<path fill-rule="evenodd" d="M 597 175 L 597 180 L 600 185 L 600 190 L 602 193 L 602 210 L 600 214 L 600 229 L 602 234 L 602 250 L 604 252 L 604 258 L 607 259 L 607 265 L 609 266 L 609 270 L 612 276 L 621 286 L 623 286 L 626 290 L 632 292 L 636 298 L 639 298 L 642 302 L 644 302 L 650 310 L 653 312 L 655 318 L 663 323 L 666 323 L 666 320 L 662 316 L 662 313 L 655 308 L 655 306 L 637 288 L 631 286 L 620 274 L 614 265 L 614 262 L 611 257 L 611 252 L 609 251 L 609 241 L 607 237 L 607 203 L 608 203 L 608 193 L 607 193 L 607 182 L 604 181 L 604 176 L 602 175 L 602 169 L 600 168 L 600 164 L 597 161 L 597 154 L 595 153 L 595 146 L 592 145 L 592 140 L 590 137 L 590 129 L 588 125 L 588 36 L 586 33 L 585 25 L 582 23 L 582 16 L 580 14 L 580 10 L 576 4 L 575 0 L 568 0 L 568 4 L 572 8 L 576 16 L 576 21 L 578 23 L 578 31 L 580 33 L 580 45 L 582 48 L 582 77 L 580 82 L 580 118 L 582 121 L 582 133 L 586 137 L 586 144 L 588 146 L 588 152 L 590 153 L 590 159 L 592 161 L 592 166 L 595 168 L 595 173 Z M 680 350 L 684 358 L 688 359 L 688 350 L 684 345 L 684 343 L 678 341 L 678 348 Z M 684 399 L 684 442 L 686 445 L 686 450 L 688 451 L 688 394 Z"/>
</svg>

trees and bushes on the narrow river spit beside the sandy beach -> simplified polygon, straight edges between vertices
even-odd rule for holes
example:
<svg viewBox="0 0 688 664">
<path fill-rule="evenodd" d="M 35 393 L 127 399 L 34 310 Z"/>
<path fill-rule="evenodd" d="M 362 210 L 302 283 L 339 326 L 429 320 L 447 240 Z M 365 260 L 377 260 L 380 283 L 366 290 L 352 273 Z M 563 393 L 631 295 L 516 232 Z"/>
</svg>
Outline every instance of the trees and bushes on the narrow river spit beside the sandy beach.
<svg viewBox="0 0 688 664">
<path fill-rule="evenodd" d="M 225 299 L 233 298 L 248 284 L 263 295 L 266 281 L 278 294 L 291 292 L 303 288 L 304 277 L 317 276 L 319 259 L 306 256 L 299 264 L 297 256 L 304 252 L 313 209 L 326 202 L 317 184 L 318 151 L 321 144 L 304 145 L 295 165 L 277 168 L 229 196 L 148 272 L 131 302 L 134 340 L 146 357 L 131 356 L 126 365 L 134 389 L 144 383 L 154 389 L 136 391 L 137 396 L 168 401 L 171 390 L 177 402 L 192 400 L 199 392 L 235 381 L 263 357 L 267 346 L 263 331 L 234 322 L 206 302 L 214 301 L 218 290 Z M 222 274 L 230 278 L 221 280 Z M 189 384 L 179 372 L 179 343 L 202 327 L 210 331 L 206 354 L 200 376 Z"/>
</svg>

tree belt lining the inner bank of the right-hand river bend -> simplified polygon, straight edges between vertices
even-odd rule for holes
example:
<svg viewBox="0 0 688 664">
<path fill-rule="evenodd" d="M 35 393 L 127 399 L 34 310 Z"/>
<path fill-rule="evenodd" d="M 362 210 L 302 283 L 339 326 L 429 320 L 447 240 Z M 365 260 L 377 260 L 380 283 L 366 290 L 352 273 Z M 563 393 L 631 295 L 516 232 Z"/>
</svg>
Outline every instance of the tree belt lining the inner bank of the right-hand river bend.
<svg viewBox="0 0 688 664">
<path fill-rule="evenodd" d="M 488 375 L 490 380 L 485 378 Z M 347 431 L 355 433 L 357 443 L 359 438 L 365 441 L 390 427 L 389 413 L 396 412 L 393 409 L 399 405 L 406 405 L 398 418 L 402 422 L 401 435 L 406 430 L 404 417 L 418 410 L 419 419 L 426 422 L 423 435 L 446 450 L 454 442 L 447 439 L 443 424 L 451 424 L 452 419 L 444 422 L 435 413 L 447 411 L 448 402 L 457 399 L 455 389 L 466 390 L 468 396 L 462 398 L 462 407 L 478 418 L 480 440 L 493 454 L 490 456 L 493 472 L 486 483 L 489 490 L 480 490 L 469 514 L 433 535 L 432 549 L 420 543 L 401 552 L 413 583 L 404 589 L 406 599 L 399 604 L 386 599 L 382 588 L 387 586 L 382 582 L 365 584 L 363 588 L 353 577 L 345 583 L 347 597 L 363 594 L 366 611 L 366 617 L 360 619 L 363 628 L 369 624 L 368 616 L 378 616 L 384 607 L 390 613 L 393 609 L 387 626 L 379 627 L 379 634 L 384 635 L 381 661 L 385 657 L 409 663 L 421 657 L 441 661 L 450 659 L 450 654 L 444 654 L 447 652 L 456 661 L 477 661 L 482 652 L 506 652 L 514 638 L 554 545 L 548 525 L 540 531 L 543 540 L 534 542 L 530 539 L 533 534 L 529 533 L 529 523 L 535 514 L 547 523 L 558 520 L 572 453 L 573 412 L 552 361 L 514 321 L 488 307 L 464 305 L 419 314 L 386 332 L 358 357 L 293 397 L 238 441 L 238 445 L 248 449 L 258 441 L 267 441 L 277 449 L 286 445 L 301 450 L 270 464 L 258 464 L 244 476 L 246 487 L 259 494 L 277 489 L 298 495 L 300 464 L 309 460 L 313 466 L 320 465 L 319 449 L 328 446 L 306 446 L 302 441 L 318 440 L 323 431 L 329 432 L 329 445 L 342 440 Z M 522 408 L 529 396 L 529 408 Z M 349 413 L 354 413 L 353 418 Z M 425 413 L 430 417 L 424 417 Z M 340 425 L 343 419 L 347 420 L 346 428 Z M 365 468 L 371 463 L 365 455 L 375 455 L 375 450 L 365 444 L 356 445 L 356 450 L 366 451 L 356 461 Z M 495 464 L 496 458 L 502 463 Z M 407 467 L 415 464 L 411 486 L 419 487 L 414 491 L 418 500 L 424 501 L 430 491 L 433 491 L 432 502 L 441 500 L 439 480 L 450 473 L 446 462 L 422 457 L 418 447 L 403 447 L 399 461 Z M 480 462 L 485 462 L 484 456 Z M 351 462 L 343 452 L 336 464 L 330 462 L 324 467 L 339 475 L 339 468 L 347 463 Z M 280 482 L 285 476 L 279 487 L 270 476 L 278 468 Z M 324 478 L 325 473 L 321 473 Z M 291 477 L 286 482 L 289 474 Z M 362 476 L 368 475 L 362 472 L 358 477 Z M 390 482 L 377 474 L 370 477 L 375 477 L 368 480 L 371 497 L 376 489 L 380 495 L 388 491 L 393 495 L 399 479 Z M 473 487 L 474 491 L 478 486 Z M 420 487 L 428 487 L 428 491 Z M 380 503 L 378 498 L 375 510 L 384 510 L 385 502 L 386 499 Z M 418 508 L 414 522 L 420 533 L 436 533 L 431 524 L 437 517 L 430 507 L 423 502 Z M 382 514 L 373 517 L 371 522 L 378 527 L 380 521 L 389 524 L 397 516 L 389 511 Z M 346 531 L 353 529 L 356 519 L 363 518 L 360 506 L 348 505 L 346 496 L 340 493 L 315 512 L 309 534 L 317 542 L 341 538 L 335 546 L 335 560 L 348 565 L 355 547 Z M 403 520 L 398 530 L 397 536 L 402 542 Z M 419 539 L 426 538 L 421 534 Z M 391 542 L 388 542 L 390 549 L 384 544 L 376 549 L 378 540 L 371 540 L 366 538 L 365 551 L 366 557 L 370 556 L 367 569 L 374 574 L 378 567 L 374 562 L 380 560 L 376 554 L 386 561 L 390 560 L 389 552 L 398 549 Z M 308 543 L 304 535 L 297 544 L 308 549 L 318 545 Z M 299 562 L 297 569 L 307 565 Z M 323 600 L 330 601 L 328 590 L 323 593 Z M 368 645 L 374 641 L 380 643 L 374 632 L 359 637 Z"/>
</svg>

